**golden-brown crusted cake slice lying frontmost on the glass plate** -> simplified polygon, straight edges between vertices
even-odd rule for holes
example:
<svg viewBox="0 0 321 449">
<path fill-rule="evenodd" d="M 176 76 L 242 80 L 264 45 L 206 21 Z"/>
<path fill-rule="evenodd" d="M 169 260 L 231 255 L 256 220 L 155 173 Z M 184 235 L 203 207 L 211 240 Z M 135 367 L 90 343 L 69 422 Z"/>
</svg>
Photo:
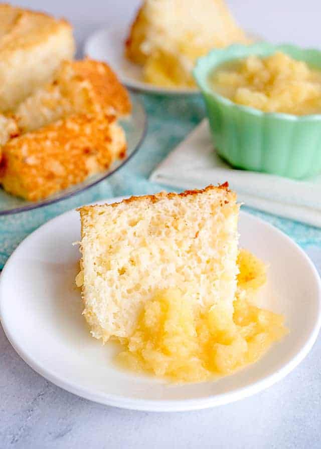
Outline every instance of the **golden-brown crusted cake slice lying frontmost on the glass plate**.
<svg viewBox="0 0 321 449">
<path fill-rule="evenodd" d="M 70 116 L 3 146 L 0 182 L 34 201 L 108 169 L 125 151 L 114 116 Z"/>
</svg>

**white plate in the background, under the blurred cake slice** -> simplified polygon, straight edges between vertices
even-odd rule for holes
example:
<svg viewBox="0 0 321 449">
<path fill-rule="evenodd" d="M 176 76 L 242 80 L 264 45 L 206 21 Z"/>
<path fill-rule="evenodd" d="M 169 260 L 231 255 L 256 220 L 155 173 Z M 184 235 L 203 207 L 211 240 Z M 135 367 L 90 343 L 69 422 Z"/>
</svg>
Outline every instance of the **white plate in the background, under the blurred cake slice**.
<svg viewBox="0 0 321 449">
<path fill-rule="evenodd" d="M 142 81 L 142 68 L 124 56 L 124 44 L 128 30 L 120 26 L 103 28 L 93 33 L 85 42 L 84 53 L 92 59 L 108 63 L 120 81 L 128 88 L 155 94 L 197 94 L 197 88 L 165 88 Z"/>
</svg>

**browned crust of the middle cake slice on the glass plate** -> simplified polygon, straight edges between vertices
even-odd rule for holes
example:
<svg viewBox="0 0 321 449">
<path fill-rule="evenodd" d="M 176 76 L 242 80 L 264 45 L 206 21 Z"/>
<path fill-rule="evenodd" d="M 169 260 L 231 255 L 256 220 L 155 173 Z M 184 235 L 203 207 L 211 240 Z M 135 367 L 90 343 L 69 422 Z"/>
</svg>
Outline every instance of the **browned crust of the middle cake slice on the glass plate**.
<svg viewBox="0 0 321 449">
<path fill-rule="evenodd" d="M 76 77 L 88 82 L 94 102 L 103 110 L 111 107 L 118 115 L 130 113 L 128 93 L 107 64 L 88 58 L 69 64 Z"/>
</svg>

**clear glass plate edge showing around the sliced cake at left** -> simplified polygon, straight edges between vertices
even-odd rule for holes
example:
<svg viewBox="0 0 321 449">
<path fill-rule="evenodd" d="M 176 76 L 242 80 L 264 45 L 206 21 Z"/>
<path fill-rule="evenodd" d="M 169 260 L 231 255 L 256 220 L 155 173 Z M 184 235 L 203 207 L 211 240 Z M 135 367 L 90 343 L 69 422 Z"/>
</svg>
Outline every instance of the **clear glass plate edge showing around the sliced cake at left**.
<svg viewBox="0 0 321 449">
<path fill-rule="evenodd" d="M 132 103 L 132 113 L 128 118 L 119 120 L 125 130 L 127 140 L 127 154 L 124 159 L 116 160 L 108 170 L 88 177 L 85 181 L 72 185 L 65 190 L 61 190 L 46 199 L 39 201 L 27 201 L 18 196 L 11 195 L 0 188 L 0 215 L 22 212 L 25 210 L 36 209 L 37 207 L 46 206 L 48 204 L 61 201 L 72 195 L 75 195 L 88 187 L 111 176 L 116 170 L 122 167 L 138 150 L 141 145 L 147 128 L 147 117 L 145 110 L 137 95 L 130 94 Z"/>
</svg>

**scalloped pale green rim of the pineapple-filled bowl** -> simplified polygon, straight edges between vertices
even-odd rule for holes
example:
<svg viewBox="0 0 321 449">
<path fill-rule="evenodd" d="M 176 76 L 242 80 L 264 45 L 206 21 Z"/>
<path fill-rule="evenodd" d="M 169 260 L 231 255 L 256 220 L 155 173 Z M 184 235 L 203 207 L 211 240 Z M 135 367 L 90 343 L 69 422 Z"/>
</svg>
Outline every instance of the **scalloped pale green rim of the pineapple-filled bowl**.
<svg viewBox="0 0 321 449">
<path fill-rule="evenodd" d="M 222 62 L 232 61 L 234 59 L 239 59 L 240 57 L 236 54 L 238 51 L 244 49 L 251 49 L 254 51 L 254 54 L 257 50 L 268 50 L 271 53 L 276 52 L 278 50 L 282 50 L 285 53 L 287 51 L 294 51 L 300 53 L 301 55 L 306 55 L 307 53 L 314 53 L 320 58 L 321 64 L 321 51 L 314 48 L 302 48 L 293 44 L 279 44 L 273 45 L 268 42 L 259 42 L 250 45 L 242 45 L 242 44 L 232 44 L 226 48 L 213 49 L 207 55 L 202 56 L 196 62 L 196 65 L 193 69 L 193 76 L 196 80 L 198 87 L 201 92 L 206 93 L 207 95 L 211 95 L 216 101 L 224 104 L 225 106 L 235 107 L 244 112 L 247 112 L 251 115 L 256 116 L 266 116 L 271 118 L 278 118 L 282 120 L 288 121 L 300 121 L 300 122 L 308 122 L 308 121 L 321 121 L 321 113 L 319 114 L 306 114 L 306 115 L 295 115 L 295 114 L 286 114 L 283 112 L 264 112 L 260 109 L 253 108 L 252 106 L 241 105 L 235 103 L 229 98 L 223 97 L 222 95 L 215 92 L 208 84 L 208 75 L 211 71 L 213 71 L 216 67 L 218 67 Z M 222 56 L 229 56 L 231 58 L 221 59 Z M 248 55 L 244 55 L 245 58 Z M 291 55 L 290 55 L 291 56 Z M 304 61 L 304 57 L 302 56 L 302 60 Z M 210 62 L 210 64 L 209 64 Z M 321 67 L 320 67 L 321 69 Z M 205 75 L 205 76 L 204 76 Z"/>
</svg>

